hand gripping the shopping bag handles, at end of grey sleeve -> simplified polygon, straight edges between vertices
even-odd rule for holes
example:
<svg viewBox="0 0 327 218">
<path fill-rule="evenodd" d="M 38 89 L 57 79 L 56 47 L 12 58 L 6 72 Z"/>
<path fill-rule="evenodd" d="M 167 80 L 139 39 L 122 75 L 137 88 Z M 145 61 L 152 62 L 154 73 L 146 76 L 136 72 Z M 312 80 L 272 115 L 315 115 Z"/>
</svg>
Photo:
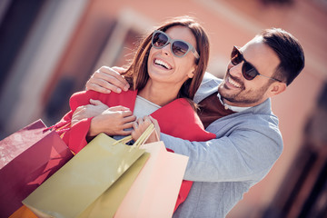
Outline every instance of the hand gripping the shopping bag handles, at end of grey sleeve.
<svg viewBox="0 0 327 218">
<path fill-rule="evenodd" d="M 146 143 L 154 143 L 160 141 L 160 126 L 152 116 L 144 116 L 144 118 L 137 119 L 133 124 L 132 137 L 134 142 L 144 133 L 146 128 L 150 125 L 154 124 L 154 132 L 149 136 L 146 140 Z"/>
</svg>

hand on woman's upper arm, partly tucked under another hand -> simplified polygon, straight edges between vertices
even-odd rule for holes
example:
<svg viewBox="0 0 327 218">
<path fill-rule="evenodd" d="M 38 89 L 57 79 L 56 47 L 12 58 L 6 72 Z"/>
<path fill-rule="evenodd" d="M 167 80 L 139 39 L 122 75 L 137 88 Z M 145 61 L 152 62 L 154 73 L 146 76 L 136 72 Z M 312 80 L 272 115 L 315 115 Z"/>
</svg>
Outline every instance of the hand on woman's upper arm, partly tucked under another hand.
<svg viewBox="0 0 327 218">
<path fill-rule="evenodd" d="M 103 104 L 99 100 L 90 99 L 90 104 L 79 106 L 74 111 L 72 117 L 72 125 L 85 118 L 90 118 L 102 114 L 106 109 L 108 109 L 108 106 L 106 104 Z"/>
</svg>

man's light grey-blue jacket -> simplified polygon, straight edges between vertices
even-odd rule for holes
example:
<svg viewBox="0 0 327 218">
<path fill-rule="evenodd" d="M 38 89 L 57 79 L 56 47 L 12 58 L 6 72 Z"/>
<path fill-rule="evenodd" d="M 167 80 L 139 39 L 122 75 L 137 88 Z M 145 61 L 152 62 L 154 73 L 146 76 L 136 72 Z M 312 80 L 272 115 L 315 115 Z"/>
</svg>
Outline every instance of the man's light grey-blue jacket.
<svg viewBox="0 0 327 218">
<path fill-rule="evenodd" d="M 216 92 L 221 81 L 205 74 L 194 101 L 199 103 Z M 190 157 L 184 179 L 194 182 L 174 218 L 225 217 L 282 154 L 282 134 L 270 99 L 224 116 L 206 130 L 216 134 L 216 139 L 200 143 L 161 134 L 166 147 Z"/>
</svg>

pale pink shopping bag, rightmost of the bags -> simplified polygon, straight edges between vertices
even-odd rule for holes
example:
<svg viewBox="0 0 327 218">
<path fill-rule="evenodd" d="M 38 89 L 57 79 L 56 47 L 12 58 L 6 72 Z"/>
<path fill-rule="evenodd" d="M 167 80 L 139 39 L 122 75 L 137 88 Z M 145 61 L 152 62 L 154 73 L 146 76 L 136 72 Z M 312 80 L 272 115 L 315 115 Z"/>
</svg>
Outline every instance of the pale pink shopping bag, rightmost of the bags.
<svg viewBox="0 0 327 218">
<path fill-rule="evenodd" d="M 150 158 L 114 217 L 172 217 L 188 157 L 167 152 L 163 142 L 141 147 L 151 154 Z"/>
</svg>

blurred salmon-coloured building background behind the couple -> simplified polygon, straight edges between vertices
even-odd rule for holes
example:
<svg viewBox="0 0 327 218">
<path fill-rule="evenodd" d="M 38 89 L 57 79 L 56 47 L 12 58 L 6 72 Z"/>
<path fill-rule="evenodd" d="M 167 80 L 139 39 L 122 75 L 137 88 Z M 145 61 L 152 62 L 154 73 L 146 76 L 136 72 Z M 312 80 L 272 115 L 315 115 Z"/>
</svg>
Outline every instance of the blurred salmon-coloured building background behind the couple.
<svg viewBox="0 0 327 218">
<path fill-rule="evenodd" d="M 267 27 L 302 43 L 306 66 L 272 99 L 284 150 L 229 217 L 324 217 L 327 213 L 326 0 L 1 0 L 0 138 L 42 118 L 54 124 L 69 96 L 102 65 L 124 65 L 142 35 L 191 15 L 211 43 L 208 71 L 223 76 L 233 45 Z"/>
</svg>

